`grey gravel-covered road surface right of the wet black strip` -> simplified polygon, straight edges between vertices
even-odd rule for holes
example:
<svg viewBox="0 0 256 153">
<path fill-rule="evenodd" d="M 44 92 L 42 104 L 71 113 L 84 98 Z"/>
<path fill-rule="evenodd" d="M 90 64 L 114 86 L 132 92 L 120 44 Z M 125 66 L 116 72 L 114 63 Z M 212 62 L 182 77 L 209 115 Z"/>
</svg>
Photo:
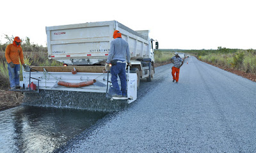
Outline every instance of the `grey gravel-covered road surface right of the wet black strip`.
<svg viewBox="0 0 256 153">
<path fill-rule="evenodd" d="M 255 82 L 189 57 L 175 84 L 171 68 L 60 152 L 256 152 Z"/>
</svg>

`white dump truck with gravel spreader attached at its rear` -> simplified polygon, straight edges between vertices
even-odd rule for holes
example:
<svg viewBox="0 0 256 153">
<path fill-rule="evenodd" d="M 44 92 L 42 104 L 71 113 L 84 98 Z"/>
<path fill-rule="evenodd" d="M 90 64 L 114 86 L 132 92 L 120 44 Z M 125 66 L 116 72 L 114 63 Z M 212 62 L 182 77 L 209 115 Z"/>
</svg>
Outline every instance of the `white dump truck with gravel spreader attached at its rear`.
<svg viewBox="0 0 256 153">
<path fill-rule="evenodd" d="M 48 58 L 63 66 L 23 69 L 23 88 L 19 91 L 25 92 L 24 105 L 115 111 L 136 100 L 141 79 L 150 82 L 154 78 L 154 40 L 149 38 L 148 30 L 133 31 L 115 20 L 50 26 L 45 30 Z M 122 33 L 131 52 L 127 98 L 123 99 L 112 97 L 111 74 L 103 71 L 115 30 Z"/>
</svg>

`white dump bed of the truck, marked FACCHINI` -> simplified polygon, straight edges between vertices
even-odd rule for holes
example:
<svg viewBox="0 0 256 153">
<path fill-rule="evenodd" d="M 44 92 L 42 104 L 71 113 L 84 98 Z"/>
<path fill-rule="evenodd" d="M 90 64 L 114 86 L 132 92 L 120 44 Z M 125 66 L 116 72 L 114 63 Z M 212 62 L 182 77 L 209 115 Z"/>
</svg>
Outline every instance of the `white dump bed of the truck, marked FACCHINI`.
<svg viewBox="0 0 256 153">
<path fill-rule="evenodd" d="M 131 59 L 152 56 L 148 31 L 133 31 L 113 20 L 46 27 L 49 59 L 70 65 L 104 64 L 115 30 L 129 43 Z"/>
</svg>

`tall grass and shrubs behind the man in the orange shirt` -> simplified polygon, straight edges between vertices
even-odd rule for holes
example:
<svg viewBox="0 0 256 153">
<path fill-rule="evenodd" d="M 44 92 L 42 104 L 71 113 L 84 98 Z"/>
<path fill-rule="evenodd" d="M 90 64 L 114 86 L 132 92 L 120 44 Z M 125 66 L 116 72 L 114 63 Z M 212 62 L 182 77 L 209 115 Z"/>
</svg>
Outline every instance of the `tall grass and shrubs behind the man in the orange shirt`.
<svg viewBox="0 0 256 153">
<path fill-rule="evenodd" d="M 7 69 L 7 63 L 5 59 L 5 48 L 10 43 L 13 43 L 14 37 L 4 35 L 7 40 L 6 43 L 0 41 L 0 89 L 7 89 L 10 86 L 9 75 Z M 30 42 L 30 39 L 26 37 L 22 39 L 21 47 L 24 54 L 24 62 L 29 66 L 62 66 L 61 62 L 49 60 L 47 57 L 47 47 L 37 45 Z M 21 66 L 22 67 L 22 66 Z M 22 71 L 20 71 L 22 74 Z M 22 75 L 20 75 L 22 80 Z"/>
</svg>

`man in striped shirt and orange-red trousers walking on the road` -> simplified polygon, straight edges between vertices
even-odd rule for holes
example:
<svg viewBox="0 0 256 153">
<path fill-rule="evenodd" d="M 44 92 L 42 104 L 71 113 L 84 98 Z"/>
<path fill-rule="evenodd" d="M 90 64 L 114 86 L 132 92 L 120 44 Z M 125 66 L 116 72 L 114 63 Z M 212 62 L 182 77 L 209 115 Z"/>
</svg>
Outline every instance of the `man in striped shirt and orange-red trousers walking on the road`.
<svg viewBox="0 0 256 153">
<path fill-rule="evenodd" d="M 178 52 L 175 52 L 174 54 L 175 56 L 172 57 L 171 61 L 173 63 L 173 67 L 172 67 L 172 77 L 173 77 L 173 81 L 178 83 L 179 82 L 179 73 L 180 73 L 180 67 L 183 65 L 184 61 L 183 59 L 179 56 Z M 180 64 L 181 63 L 181 64 Z M 175 76 L 176 73 L 176 76 Z"/>
</svg>

